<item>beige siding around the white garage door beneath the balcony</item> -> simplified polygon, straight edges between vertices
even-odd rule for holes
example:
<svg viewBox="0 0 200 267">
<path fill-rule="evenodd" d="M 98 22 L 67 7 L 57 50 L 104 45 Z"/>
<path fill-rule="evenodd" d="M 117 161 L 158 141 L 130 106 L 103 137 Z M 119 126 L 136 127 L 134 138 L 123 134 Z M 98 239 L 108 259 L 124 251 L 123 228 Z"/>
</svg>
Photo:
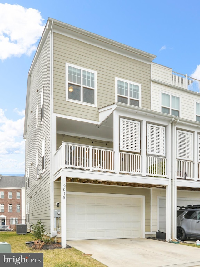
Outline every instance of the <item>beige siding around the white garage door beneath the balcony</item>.
<svg viewBox="0 0 200 267">
<path fill-rule="evenodd" d="M 123 187 L 123 186 L 94 185 L 94 184 L 90 185 L 84 183 L 67 183 L 67 191 L 145 196 L 145 231 L 146 232 L 150 231 L 150 189 Z M 54 182 L 54 202 L 55 201 L 60 202 L 60 199 L 61 199 L 60 182 Z"/>
</svg>

